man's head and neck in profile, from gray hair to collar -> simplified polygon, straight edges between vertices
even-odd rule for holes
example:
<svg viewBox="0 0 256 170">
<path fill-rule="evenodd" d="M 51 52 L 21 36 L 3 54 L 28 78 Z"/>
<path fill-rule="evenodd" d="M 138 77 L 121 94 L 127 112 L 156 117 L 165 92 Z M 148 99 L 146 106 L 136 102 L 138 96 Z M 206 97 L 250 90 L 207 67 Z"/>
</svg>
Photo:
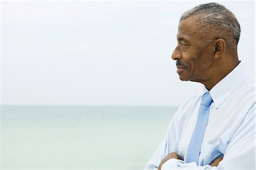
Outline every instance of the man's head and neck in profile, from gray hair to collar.
<svg viewBox="0 0 256 170">
<path fill-rule="evenodd" d="M 172 54 L 181 80 L 212 88 L 238 64 L 240 24 L 232 12 L 217 3 L 184 12 Z"/>
</svg>

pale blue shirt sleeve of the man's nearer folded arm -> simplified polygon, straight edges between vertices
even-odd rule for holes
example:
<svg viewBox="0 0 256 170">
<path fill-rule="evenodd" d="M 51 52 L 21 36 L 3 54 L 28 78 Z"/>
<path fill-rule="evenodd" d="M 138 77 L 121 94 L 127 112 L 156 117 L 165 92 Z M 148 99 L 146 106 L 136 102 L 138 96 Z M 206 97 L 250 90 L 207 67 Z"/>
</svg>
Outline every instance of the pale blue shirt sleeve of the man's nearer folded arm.
<svg viewBox="0 0 256 170">
<path fill-rule="evenodd" d="M 229 142 L 218 167 L 198 166 L 195 162 L 170 159 L 162 166 L 162 170 L 167 169 L 255 169 L 255 105 Z"/>
</svg>

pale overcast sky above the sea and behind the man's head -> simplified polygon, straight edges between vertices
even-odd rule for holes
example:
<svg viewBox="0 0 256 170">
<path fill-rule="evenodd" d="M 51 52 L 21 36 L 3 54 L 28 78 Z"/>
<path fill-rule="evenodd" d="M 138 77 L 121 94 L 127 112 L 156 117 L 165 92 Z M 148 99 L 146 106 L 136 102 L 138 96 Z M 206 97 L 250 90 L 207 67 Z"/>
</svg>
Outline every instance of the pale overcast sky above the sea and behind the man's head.
<svg viewBox="0 0 256 170">
<path fill-rule="evenodd" d="M 171 54 L 184 11 L 212 1 L 2 1 L 2 105 L 177 106 Z M 241 25 L 238 57 L 255 75 L 254 1 L 217 1 Z"/>
</svg>

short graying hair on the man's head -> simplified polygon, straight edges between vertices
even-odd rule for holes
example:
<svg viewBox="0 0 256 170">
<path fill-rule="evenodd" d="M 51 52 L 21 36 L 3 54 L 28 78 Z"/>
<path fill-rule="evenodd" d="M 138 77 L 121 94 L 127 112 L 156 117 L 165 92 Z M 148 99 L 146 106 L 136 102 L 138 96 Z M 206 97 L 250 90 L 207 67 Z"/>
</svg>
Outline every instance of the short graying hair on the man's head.
<svg viewBox="0 0 256 170">
<path fill-rule="evenodd" d="M 203 35 L 213 35 L 215 38 L 222 38 L 227 45 L 237 46 L 240 39 L 240 24 L 234 14 L 225 6 L 218 3 L 205 3 L 184 12 L 180 18 L 187 19 L 191 16 L 197 16 L 199 30 L 205 31 Z"/>
</svg>

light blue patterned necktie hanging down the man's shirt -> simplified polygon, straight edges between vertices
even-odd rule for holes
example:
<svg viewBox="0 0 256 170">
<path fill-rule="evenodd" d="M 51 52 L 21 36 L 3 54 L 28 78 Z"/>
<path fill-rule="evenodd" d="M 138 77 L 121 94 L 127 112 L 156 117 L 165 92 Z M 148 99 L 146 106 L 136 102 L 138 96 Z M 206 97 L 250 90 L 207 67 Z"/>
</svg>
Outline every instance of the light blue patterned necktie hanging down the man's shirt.
<svg viewBox="0 0 256 170">
<path fill-rule="evenodd" d="M 203 142 L 205 129 L 207 127 L 211 103 L 212 97 L 210 97 L 209 92 L 206 92 L 202 97 L 197 116 L 196 126 L 188 146 L 186 163 L 196 162 L 196 164 L 198 164 L 200 148 Z"/>
</svg>

